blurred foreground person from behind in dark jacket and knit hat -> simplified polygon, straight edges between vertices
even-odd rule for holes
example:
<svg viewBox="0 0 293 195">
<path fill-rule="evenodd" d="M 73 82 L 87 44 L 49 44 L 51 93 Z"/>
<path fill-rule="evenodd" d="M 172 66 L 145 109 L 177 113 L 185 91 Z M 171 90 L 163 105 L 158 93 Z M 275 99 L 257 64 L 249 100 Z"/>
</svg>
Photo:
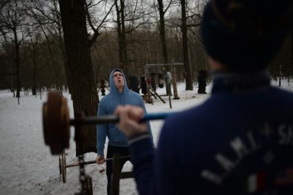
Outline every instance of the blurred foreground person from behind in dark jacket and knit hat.
<svg viewBox="0 0 293 195">
<path fill-rule="evenodd" d="M 201 32 L 210 99 L 165 121 L 156 152 L 143 110 L 118 107 L 139 194 L 293 194 L 293 94 L 267 65 L 292 33 L 291 0 L 212 0 Z"/>
</svg>

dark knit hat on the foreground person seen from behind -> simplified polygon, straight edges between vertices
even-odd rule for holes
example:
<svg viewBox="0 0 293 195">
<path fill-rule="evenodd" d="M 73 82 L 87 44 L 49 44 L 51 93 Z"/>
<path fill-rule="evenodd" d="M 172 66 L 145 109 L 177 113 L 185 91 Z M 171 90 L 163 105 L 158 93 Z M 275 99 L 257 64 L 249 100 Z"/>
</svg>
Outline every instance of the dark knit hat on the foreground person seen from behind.
<svg viewBox="0 0 293 195">
<path fill-rule="evenodd" d="M 291 0 L 211 0 L 201 35 L 206 52 L 234 72 L 263 70 L 292 30 Z"/>
</svg>

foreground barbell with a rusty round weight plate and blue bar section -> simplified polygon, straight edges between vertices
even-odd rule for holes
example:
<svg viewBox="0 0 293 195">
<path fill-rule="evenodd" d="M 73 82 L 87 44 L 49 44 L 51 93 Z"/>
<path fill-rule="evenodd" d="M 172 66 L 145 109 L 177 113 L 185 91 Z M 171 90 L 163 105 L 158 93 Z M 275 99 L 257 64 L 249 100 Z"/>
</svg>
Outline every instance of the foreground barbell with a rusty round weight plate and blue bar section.
<svg viewBox="0 0 293 195">
<path fill-rule="evenodd" d="M 173 114 L 145 114 L 141 122 L 165 119 Z M 43 135 L 45 144 L 49 145 L 53 155 L 62 154 L 69 147 L 70 125 L 94 125 L 102 123 L 118 123 L 119 116 L 88 116 L 70 119 L 67 101 L 59 92 L 49 92 L 48 101 L 43 103 Z"/>
</svg>

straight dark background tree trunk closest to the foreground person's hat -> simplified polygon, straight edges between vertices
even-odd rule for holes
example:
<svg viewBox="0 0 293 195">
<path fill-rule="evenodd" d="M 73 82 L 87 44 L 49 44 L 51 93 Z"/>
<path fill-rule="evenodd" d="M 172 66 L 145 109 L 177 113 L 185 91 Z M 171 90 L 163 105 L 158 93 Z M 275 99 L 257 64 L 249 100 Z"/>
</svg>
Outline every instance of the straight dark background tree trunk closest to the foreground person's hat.
<svg viewBox="0 0 293 195">
<path fill-rule="evenodd" d="M 188 32 L 186 26 L 186 10 L 185 10 L 185 0 L 181 0 L 181 16 L 182 16 L 182 41 L 183 41 L 183 61 L 185 65 L 185 90 L 193 90 L 192 86 L 192 68 L 190 66 L 189 54 L 188 54 Z"/>
</svg>

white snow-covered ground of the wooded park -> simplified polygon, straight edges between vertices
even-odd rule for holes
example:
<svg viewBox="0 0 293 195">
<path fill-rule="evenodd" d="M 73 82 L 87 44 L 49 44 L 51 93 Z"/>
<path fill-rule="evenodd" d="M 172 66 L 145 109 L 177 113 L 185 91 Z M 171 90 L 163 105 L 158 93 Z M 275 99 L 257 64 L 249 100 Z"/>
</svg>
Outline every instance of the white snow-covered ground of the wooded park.
<svg viewBox="0 0 293 195">
<path fill-rule="evenodd" d="M 273 85 L 279 85 L 273 81 Z M 293 92 L 293 83 L 282 81 L 282 88 Z M 159 99 L 154 104 L 146 104 L 148 112 L 174 112 L 203 103 L 210 96 L 211 85 L 208 85 L 208 94 L 197 94 L 185 91 L 185 84 L 178 84 L 180 99 L 172 100 L 172 110 L 168 103 L 168 96 L 163 96 L 166 103 Z M 165 88 L 157 90 L 165 94 Z M 101 95 L 101 94 L 100 94 Z M 72 117 L 72 102 L 65 93 Z M 101 97 L 101 96 L 100 96 Z M 79 168 L 67 169 L 67 183 L 59 180 L 58 156 L 52 156 L 48 147 L 43 142 L 41 110 L 43 101 L 39 96 L 24 96 L 22 94 L 20 105 L 17 99 L 8 91 L 0 92 L 0 194 L 74 194 L 79 192 Z M 152 121 L 154 143 L 159 139 L 163 121 Z M 71 130 L 73 134 L 73 130 Z M 75 156 L 74 141 L 71 139 L 70 149 L 66 150 L 66 163 L 77 161 Z M 107 148 L 107 147 L 106 147 Z M 106 150 L 105 148 L 105 150 Z M 97 154 L 85 155 L 85 161 L 92 161 Z M 86 174 L 92 176 L 94 194 L 106 194 L 105 172 L 99 172 L 105 165 L 86 165 Z M 132 170 L 131 163 L 126 163 L 123 171 Z M 120 194 L 137 194 L 133 179 L 121 180 Z"/>
</svg>

